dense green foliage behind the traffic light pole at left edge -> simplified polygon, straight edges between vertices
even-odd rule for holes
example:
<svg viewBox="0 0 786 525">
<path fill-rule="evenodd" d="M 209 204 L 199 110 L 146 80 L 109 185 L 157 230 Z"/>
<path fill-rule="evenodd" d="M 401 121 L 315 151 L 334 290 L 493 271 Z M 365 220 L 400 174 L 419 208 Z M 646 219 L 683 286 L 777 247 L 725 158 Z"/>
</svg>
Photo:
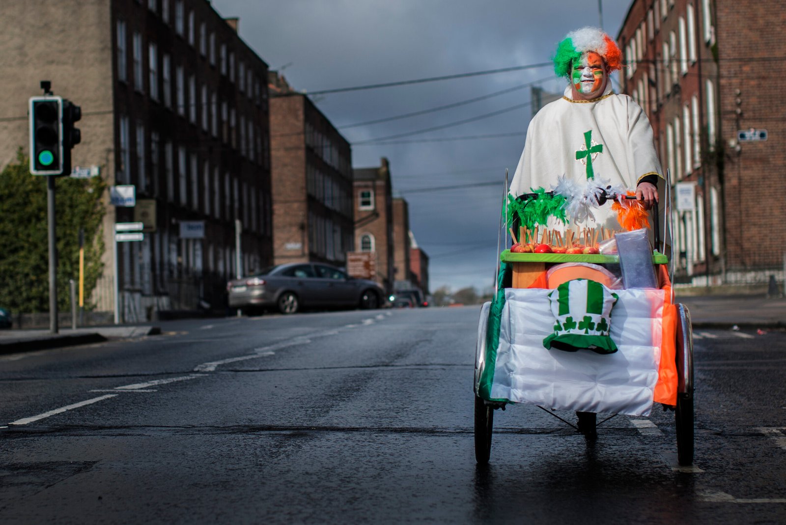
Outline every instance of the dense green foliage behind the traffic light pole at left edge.
<svg viewBox="0 0 786 525">
<path fill-rule="evenodd" d="M 68 279 L 79 278 L 79 229 L 85 232 L 85 297 L 101 276 L 104 253 L 100 177 L 57 178 L 57 307 L 69 306 Z M 0 172 L 0 306 L 13 312 L 49 311 L 46 177 L 31 175 L 22 149 Z M 90 307 L 90 305 L 85 305 Z"/>
</svg>

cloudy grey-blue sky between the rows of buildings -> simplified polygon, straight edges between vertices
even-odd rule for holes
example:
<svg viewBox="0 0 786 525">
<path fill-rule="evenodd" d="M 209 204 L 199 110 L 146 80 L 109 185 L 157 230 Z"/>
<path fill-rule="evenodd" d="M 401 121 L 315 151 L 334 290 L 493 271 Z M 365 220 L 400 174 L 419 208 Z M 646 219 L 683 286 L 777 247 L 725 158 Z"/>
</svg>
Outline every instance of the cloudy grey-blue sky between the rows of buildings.
<svg viewBox="0 0 786 525">
<path fill-rule="evenodd" d="M 212 5 L 222 17 L 239 17 L 241 39 L 293 88 L 310 94 L 351 143 L 353 167 L 379 166 L 387 157 L 394 194 L 409 203 L 410 229 L 430 258 L 431 291 L 493 287 L 505 169 L 512 178 L 532 116 L 531 86 L 561 93 L 567 85 L 550 64 L 312 93 L 549 62 L 568 31 L 601 25 L 599 2 L 213 0 Z M 602 0 L 603 29 L 612 38 L 629 6 L 630 0 Z M 430 111 L 442 106 L 450 107 Z M 392 119 L 399 116 L 406 118 Z M 384 122 L 369 123 L 380 119 Z"/>
</svg>

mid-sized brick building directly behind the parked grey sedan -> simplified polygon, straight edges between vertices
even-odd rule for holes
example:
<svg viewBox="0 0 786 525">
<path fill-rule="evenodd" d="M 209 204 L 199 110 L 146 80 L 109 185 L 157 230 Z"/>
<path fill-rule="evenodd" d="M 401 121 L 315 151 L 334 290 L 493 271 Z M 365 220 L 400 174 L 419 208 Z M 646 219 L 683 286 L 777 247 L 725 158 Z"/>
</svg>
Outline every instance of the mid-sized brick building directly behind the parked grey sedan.
<svg viewBox="0 0 786 525">
<path fill-rule="evenodd" d="M 352 152 L 309 98 L 270 72 L 274 262 L 345 266 L 354 249 Z"/>
</svg>

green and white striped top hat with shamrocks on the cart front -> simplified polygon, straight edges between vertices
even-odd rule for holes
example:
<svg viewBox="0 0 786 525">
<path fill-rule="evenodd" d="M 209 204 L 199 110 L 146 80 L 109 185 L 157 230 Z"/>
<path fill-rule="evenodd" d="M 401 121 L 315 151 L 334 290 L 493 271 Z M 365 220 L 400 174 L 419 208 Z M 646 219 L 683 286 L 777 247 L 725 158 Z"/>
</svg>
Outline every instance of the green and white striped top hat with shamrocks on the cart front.
<svg viewBox="0 0 786 525">
<path fill-rule="evenodd" d="M 597 354 L 617 351 L 608 333 L 612 329 L 612 307 L 617 295 L 588 279 L 564 282 L 549 294 L 556 318 L 554 333 L 543 340 L 546 348 L 575 352 L 582 348 Z"/>
</svg>

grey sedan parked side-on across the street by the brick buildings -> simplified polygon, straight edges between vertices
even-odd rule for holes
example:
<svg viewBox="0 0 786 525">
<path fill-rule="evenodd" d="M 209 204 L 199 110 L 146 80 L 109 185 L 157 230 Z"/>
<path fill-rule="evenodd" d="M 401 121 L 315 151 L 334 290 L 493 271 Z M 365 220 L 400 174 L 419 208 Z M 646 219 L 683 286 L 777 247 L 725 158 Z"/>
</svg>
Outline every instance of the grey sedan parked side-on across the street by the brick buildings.
<svg viewBox="0 0 786 525">
<path fill-rule="evenodd" d="M 379 308 L 384 290 L 328 264 L 288 262 L 226 285 L 232 308 L 276 308 L 294 314 L 303 308 Z"/>
</svg>

